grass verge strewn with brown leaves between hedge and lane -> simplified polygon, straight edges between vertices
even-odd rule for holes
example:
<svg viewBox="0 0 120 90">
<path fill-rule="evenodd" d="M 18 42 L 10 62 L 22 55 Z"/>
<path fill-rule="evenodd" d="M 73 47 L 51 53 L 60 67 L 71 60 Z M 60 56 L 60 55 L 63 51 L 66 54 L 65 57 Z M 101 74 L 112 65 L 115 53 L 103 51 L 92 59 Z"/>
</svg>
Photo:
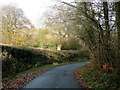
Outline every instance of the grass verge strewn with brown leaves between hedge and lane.
<svg viewBox="0 0 120 90">
<path fill-rule="evenodd" d="M 9 78 L 3 78 L 3 88 L 21 88 L 26 83 L 28 83 L 30 80 L 38 76 L 39 74 L 65 64 L 71 64 L 71 63 L 77 63 L 77 62 L 66 62 L 66 63 L 53 63 L 49 65 L 43 65 L 39 67 L 34 67 L 29 70 L 26 70 L 24 72 L 16 74 L 14 77 Z"/>
</svg>

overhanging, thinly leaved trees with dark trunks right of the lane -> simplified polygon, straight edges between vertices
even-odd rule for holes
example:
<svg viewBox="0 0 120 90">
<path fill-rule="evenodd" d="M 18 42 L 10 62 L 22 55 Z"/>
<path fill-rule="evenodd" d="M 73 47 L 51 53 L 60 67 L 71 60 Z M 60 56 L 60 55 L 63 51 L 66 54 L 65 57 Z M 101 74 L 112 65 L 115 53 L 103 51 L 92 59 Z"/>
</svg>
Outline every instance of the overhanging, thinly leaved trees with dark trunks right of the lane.
<svg viewBox="0 0 120 90">
<path fill-rule="evenodd" d="M 81 39 L 96 63 L 119 67 L 119 2 L 58 2 L 47 26 Z"/>
</svg>

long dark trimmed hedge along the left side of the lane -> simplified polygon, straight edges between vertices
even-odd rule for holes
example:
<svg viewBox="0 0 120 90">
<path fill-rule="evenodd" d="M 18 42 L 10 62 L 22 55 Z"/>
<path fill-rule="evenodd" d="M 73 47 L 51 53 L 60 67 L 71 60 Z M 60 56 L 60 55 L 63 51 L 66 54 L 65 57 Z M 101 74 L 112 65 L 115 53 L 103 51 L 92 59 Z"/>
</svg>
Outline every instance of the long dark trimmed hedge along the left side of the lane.
<svg viewBox="0 0 120 90">
<path fill-rule="evenodd" d="M 88 54 L 86 52 L 83 52 Z M 2 77 L 14 76 L 16 73 L 53 63 L 64 63 L 79 61 L 81 58 L 89 58 L 89 55 L 82 56 L 77 51 L 42 50 L 36 48 L 20 48 L 2 45 Z"/>
</svg>

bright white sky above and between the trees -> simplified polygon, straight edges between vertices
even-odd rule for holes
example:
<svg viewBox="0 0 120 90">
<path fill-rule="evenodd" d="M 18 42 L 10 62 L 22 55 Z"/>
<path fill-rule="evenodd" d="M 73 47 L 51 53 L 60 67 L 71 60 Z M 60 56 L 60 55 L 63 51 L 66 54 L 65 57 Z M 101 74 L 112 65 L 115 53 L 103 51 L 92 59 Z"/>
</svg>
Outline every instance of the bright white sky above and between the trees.
<svg viewBox="0 0 120 90">
<path fill-rule="evenodd" d="M 64 0 L 70 2 L 71 0 Z M 53 0 L 0 0 L 0 6 L 15 4 L 24 11 L 25 16 L 36 26 L 41 27 L 43 13 L 54 4 Z"/>
</svg>

